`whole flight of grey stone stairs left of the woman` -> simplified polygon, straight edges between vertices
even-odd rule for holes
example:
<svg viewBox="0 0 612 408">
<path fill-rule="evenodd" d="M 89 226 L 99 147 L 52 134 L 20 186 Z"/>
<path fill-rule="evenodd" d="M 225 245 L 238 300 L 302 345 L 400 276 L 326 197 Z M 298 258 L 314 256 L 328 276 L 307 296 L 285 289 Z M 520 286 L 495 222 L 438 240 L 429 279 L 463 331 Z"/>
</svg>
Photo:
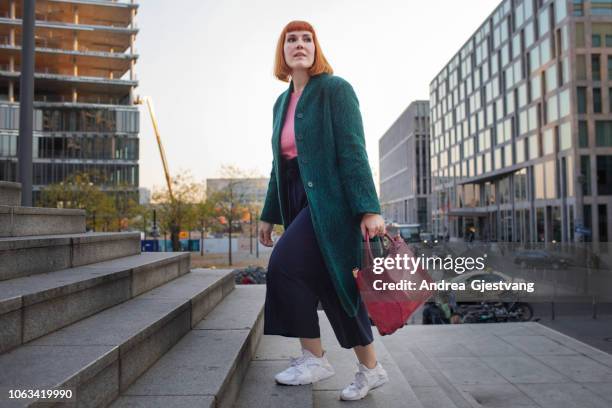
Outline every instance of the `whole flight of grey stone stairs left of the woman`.
<svg viewBox="0 0 612 408">
<path fill-rule="evenodd" d="M 53 405 L 9 398 L 30 389 L 70 389 L 57 406 L 232 406 L 263 287 L 141 254 L 139 233 L 85 233 L 82 211 L 19 207 L 15 190 L 0 184 L 0 407 Z"/>
</svg>

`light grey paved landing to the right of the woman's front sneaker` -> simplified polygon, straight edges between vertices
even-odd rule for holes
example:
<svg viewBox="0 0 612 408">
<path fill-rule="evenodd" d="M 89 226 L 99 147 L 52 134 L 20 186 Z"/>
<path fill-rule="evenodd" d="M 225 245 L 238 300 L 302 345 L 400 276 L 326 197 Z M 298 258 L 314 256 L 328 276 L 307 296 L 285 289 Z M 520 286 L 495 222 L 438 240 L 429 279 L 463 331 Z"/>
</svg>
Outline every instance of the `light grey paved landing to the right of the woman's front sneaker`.
<svg viewBox="0 0 612 408">
<path fill-rule="evenodd" d="M 612 406 L 612 356 L 539 323 L 413 325 L 383 343 L 424 408 Z"/>
</svg>

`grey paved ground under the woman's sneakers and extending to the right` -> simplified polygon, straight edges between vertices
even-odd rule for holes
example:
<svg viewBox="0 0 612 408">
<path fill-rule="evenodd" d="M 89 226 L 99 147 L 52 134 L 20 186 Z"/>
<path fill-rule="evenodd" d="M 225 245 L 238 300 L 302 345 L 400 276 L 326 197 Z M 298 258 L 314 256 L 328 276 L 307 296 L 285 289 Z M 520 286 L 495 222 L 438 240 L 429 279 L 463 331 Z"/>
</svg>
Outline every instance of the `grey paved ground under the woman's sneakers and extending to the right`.
<svg viewBox="0 0 612 408">
<path fill-rule="evenodd" d="M 353 376 L 355 358 L 337 346 L 324 314 L 320 320 L 336 375 L 307 388 L 275 385 L 273 373 L 299 349 L 293 339 L 264 336 L 243 387 L 250 397 L 243 392 L 239 407 L 256 406 L 245 398 L 288 406 L 281 394 L 309 407 L 345 406 L 338 393 Z M 612 407 L 612 355 L 540 323 L 409 325 L 376 336 L 375 344 L 392 382 L 351 407 Z"/>
</svg>

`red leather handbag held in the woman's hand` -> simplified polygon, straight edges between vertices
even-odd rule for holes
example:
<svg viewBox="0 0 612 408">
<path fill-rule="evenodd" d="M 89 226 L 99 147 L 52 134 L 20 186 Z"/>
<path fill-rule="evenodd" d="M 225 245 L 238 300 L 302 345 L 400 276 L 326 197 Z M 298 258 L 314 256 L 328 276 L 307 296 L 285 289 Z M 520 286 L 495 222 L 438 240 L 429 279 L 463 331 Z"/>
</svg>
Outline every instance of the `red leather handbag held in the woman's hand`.
<svg viewBox="0 0 612 408">
<path fill-rule="evenodd" d="M 414 258 L 412 249 L 401 237 L 394 239 L 389 234 L 385 236 L 390 241 L 387 254 L 375 262 L 366 232 L 363 267 L 354 273 L 370 319 L 383 336 L 403 327 L 415 310 L 433 293 L 428 289 L 420 289 L 423 281 L 432 282 L 427 271 L 422 267 L 404 268 L 403 260 Z M 398 255 L 402 260 L 399 268 L 396 262 Z M 392 262 L 384 262 L 388 258 L 393 259 L 392 267 L 389 267 Z"/>
</svg>

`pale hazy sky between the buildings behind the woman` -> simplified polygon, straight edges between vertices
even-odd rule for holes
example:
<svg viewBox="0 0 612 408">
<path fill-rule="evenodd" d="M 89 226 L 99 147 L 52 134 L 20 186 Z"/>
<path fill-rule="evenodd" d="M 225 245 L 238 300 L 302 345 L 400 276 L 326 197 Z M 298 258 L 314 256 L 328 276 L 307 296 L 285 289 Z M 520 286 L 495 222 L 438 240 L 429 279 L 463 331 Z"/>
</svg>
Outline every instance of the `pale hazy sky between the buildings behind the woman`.
<svg viewBox="0 0 612 408">
<path fill-rule="evenodd" d="M 136 94 L 152 98 L 171 175 L 197 182 L 234 165 L 270 174 L 272 106 L 287 83 L 272 75 L 292 20 L 315 30 L 334 74 L 360 101 L 378 178 L 378 140 L 450 61 L 497 0 L 141 0 Z M 140 116 L 140 186 L 165 186 L 148 112 Z"/>
</svg>

